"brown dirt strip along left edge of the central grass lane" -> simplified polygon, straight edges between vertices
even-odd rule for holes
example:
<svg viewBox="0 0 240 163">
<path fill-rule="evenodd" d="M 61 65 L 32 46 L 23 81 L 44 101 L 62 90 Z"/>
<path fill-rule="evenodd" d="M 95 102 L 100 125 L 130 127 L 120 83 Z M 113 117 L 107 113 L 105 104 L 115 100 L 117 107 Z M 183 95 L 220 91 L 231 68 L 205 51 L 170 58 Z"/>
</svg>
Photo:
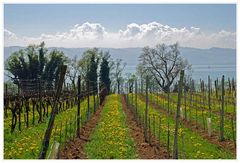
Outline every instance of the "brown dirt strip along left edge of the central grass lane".
<svg viewBox="0 0 240 163">
<path fill-rule="evenodd" d="M 88 121 L 86 125 L 82 127 L 80 131 L 80 138 L 76 137 L 73 141 L 68 142 L 67 145 L 60 151 L 60 159 L 87 159 L 86 153 L 84 152 L 84 145 L 91 141 L 89 137 L 95 129 L 99 118 L 101 117 L 104 104 L 105 100 L 100 108 L 97 109 L 90 121 Z"/>
</svg>

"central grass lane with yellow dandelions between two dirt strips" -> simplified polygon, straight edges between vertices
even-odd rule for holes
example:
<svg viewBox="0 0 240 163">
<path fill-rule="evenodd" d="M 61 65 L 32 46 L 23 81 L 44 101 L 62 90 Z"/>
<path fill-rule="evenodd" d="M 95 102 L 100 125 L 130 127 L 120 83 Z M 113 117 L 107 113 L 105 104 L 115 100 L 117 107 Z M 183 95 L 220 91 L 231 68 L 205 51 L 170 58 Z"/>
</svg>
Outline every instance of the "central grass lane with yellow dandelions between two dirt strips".
<svg viewBox="0 0 240 163">
<path fill-rule="evenodd" d="M 107 96 L 100 121 L 84 148 L 90 159 L 137 158 L 119 95 Z"/>
</svg>

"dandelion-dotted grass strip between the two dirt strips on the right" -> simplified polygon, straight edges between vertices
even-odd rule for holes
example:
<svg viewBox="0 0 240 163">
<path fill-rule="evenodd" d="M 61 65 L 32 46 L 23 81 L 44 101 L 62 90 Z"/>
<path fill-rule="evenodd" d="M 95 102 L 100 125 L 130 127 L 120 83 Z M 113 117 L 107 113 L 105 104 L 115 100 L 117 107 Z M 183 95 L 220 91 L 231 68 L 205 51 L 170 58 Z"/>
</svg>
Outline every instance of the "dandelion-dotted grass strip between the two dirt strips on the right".
<svg viewBox="0 0 240 163">
<path fill-rule="evenodd" d="M 129 99 L 131 95 L 129 96 Z M 132 105 L 131 100 L 129 102 Z M 143 121 L 144 112 L 145 112 L 145 101 L 142 101 L 138 98 L 138 115 Z M 153 108 L 149 105 L 149 116 L 150 117 L 150 127 L 151 132 L 154 133 L 153 129 L 153 117 L 155 117 L 155 137 L 159 137 L 159 120 L 161 118 L 161 128 L 160 128 L 160 143 L 166 146 L 167 143 L 167 123 L 169 122 L 170 126 L 170 149 L 172 154 L 173 148 L 173 135 L 175 129 L 175 120 L 167 115 L 160 113 L 156 108 Z M 179 133 L 179 158 L 182 159 L 235 159 L 235 156 L 222 148 L 219 148 L 217 145 L 209 143 L 207 140 L 203 139 L 197 133 L 191 131 L 190 129 L 180 126 Z M 182 141 L 183 140 L 183 141 Z"/>
</svg>

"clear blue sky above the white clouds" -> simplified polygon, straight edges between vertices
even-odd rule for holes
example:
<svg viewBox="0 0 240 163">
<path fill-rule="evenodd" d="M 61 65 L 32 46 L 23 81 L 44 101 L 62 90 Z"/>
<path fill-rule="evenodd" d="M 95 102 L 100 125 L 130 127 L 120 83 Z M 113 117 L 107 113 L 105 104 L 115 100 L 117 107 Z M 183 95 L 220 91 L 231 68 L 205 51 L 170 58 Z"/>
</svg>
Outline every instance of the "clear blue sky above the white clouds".
<svg viewBox="0 0 240 163">
<path fill-rule="evenodd" d="M 4 5 L 4 29 L 18 37 L 63 33 L 85 22 L 99 23 L 112 33 L 125 30 L 131 23 L 151 22 L 177 29 L 197 27 L 206 35 L 221 30 L 234 33 L 236 5 Z"/>
</svg>

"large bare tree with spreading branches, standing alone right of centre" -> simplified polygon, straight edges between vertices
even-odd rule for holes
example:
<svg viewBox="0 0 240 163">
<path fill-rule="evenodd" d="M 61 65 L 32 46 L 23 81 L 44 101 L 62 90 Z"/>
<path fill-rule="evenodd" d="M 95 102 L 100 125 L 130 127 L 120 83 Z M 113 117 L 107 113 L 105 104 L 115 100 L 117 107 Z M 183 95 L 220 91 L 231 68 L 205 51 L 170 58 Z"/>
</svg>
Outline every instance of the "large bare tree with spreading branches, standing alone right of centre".
<svg viewBox="0 0 240 163">
<path fill-rule="evenodd" d="M 180 56 L 178 43 L 170 46 L 157 44 L 144 47 L 140 55 L 142 72 L 150 73 L 164 92 L 168 92 L 181 70 L 190 69 L 187 60 Z"/>
</svg>

